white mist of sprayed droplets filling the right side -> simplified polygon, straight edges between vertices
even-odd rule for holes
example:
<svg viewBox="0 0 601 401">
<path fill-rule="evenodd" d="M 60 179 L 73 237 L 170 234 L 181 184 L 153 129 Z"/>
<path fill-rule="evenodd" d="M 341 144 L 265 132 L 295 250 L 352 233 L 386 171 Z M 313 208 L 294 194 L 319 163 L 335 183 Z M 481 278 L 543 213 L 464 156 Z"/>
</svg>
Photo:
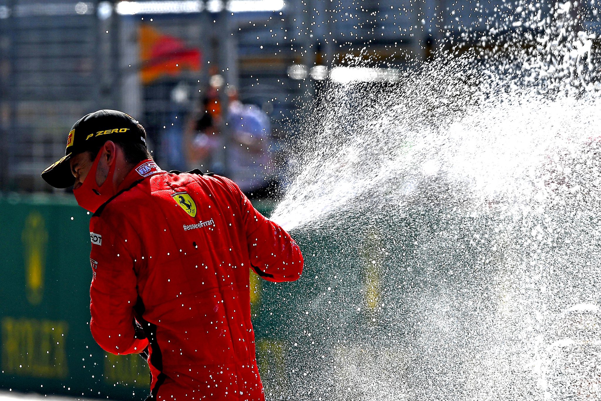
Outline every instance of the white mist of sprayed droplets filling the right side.
<svg viewBox="0 0 601 401">
<path fill-rule="evenodd" d="M 570 3 L 518 6 L 487 50 L 307 106 L 272 215 L 311 260 L 279 394 L 601 397 L 594 35 Z"/>
</svg>

